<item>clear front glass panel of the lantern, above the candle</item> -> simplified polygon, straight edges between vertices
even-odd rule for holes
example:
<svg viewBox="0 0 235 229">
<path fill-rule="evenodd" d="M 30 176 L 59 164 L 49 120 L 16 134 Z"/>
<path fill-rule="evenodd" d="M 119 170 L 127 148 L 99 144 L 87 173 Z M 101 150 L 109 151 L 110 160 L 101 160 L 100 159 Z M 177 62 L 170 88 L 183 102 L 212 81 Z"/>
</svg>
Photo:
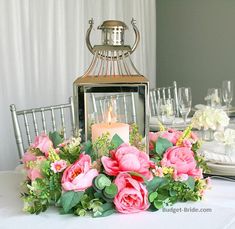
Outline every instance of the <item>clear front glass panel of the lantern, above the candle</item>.
<svg viewBox="0 0 235 229">
<path fill-rule="evenodd" d="M 91 139 L 91 126 L 95 123 L 126 123 L 136 124 L 140 134 L 145 138 L 147 133 L 146 94 L 147 84 L 107 84 L 78 87 L 80 128 L 84 130 L 86 140 Z M 84 102 L 83 102 L 84 101 Z M 108 112 L 112 108 L 111 120 Z"/>
</svg>

